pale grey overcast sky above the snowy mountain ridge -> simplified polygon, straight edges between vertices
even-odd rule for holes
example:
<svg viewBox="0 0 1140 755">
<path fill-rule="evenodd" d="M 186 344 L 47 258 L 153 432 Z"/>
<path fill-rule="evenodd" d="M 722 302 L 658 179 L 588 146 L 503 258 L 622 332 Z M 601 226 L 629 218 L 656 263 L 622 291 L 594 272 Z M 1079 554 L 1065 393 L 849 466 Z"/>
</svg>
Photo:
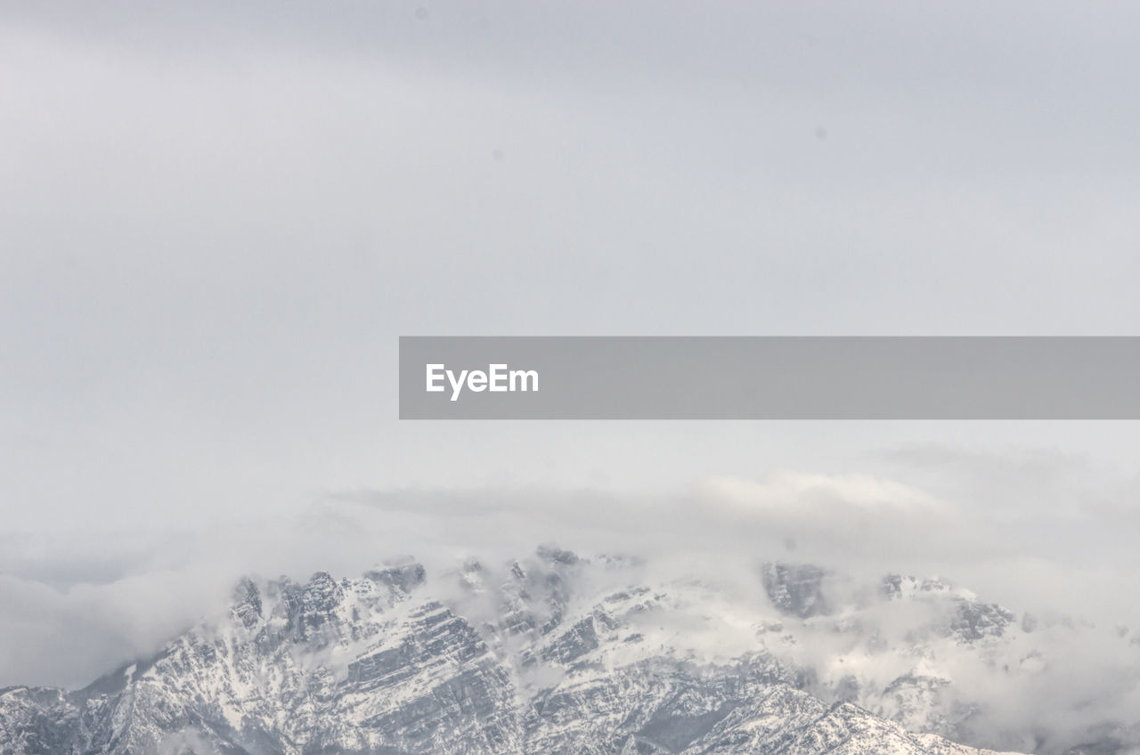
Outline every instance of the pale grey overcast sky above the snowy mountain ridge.
<svg viewBox="0 0 1140 755">
<path fill-rule="evenodd" d="M 219 543 L 352 568 L 352 528 L 312 517 L 369 496 L 435 515 L 376 551 L 503 543 L 458 523 L 480 496 L 515 496 L 527 538 L 577 531 L 572 492 L 660 496 L 714 542 L 738 525 L 693 508 L 709 490 L 816 480 L 958 512 L 942 551 L 925 519 L 897 551 L 880 531 L 901 560 L 964 571 L 1008 529 L 1011 557 L 1123 575 L 1137 423 L 400 423 L 396 354 L 1137 334 L 1137 29 L 1126 2 L 3 3 L 0 639 L 74 644 L 36 622 L 122 603 L 56 665 L 0 655 L 0 684 L 172 631 L 140 628 L 135 585 L 205 593 Z"/>
</svg>

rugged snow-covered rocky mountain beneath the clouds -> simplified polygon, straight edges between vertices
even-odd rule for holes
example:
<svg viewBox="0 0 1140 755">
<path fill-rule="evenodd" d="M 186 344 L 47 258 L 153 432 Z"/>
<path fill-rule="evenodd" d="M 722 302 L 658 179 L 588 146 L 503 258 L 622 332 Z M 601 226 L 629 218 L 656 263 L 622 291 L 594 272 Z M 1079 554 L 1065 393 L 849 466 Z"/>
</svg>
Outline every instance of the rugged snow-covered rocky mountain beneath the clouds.
<svg viewBox="0 0 1140 755">
<path fill-rule="evenodd" d="M 956 675 L 1042 663 L 1010 611 L 940 581 L 653 575 L 542 547 L 243 579 L 156 657 L 0 690 L 0 753 L 966 755 L 990 750 L 951 741 L 984 717 Z"/>
</svg>

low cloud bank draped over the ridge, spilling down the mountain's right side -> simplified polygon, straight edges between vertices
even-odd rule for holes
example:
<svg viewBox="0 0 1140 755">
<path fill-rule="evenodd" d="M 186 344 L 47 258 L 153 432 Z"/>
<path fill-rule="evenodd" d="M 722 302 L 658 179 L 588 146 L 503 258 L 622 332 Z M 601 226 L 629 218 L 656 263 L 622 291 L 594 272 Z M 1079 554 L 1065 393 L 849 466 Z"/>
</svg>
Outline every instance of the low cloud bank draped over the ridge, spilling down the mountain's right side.
<svg viewBox="0 0 1140 755">
<path fill-rule="evenodd" d="M 986 474 L 992 480 L 993 469 Z M 1140 627 L 1138 558 L 1124 547 L 1122 527 L 1135 515 L 1130 481 L 1101 485 L 1088 505 L 1075 494 L 1072 505 L 1048 511 L 1016 496 L 1003 508 L 979 506 L 938 487 L 783 471 L 710 478 L 653 497 L 357 490 L 327 495 L 301 517 L 203 521 L 97 542 L 9 535 L 0 555 L 0 685 L 76 687 L 153 653 L 219 610 L 243 574 L 356 575 L 401 554 L 439 573 L 462 559 L 500 562 L 555 542 L 642 557 L 654 579 L 709 578 L 754 594 L 766 560 L 817 563 L 864 585 L 886 573 L 942 575 L 1039 623 L 1034 647 L 1016 663 L 1032 664 L 1041 647 L 1049 656 L 1048 671 L 1031 675 L 946 659 L 962 696 L 986 704 L 979 737 L 1023 730 L 1077 744 L 1106 720 L 1126 720 L 1140 705 L 1140 644 L 1127 641 Z M 906 622 L 896 614 L 872 618 L 891 642 L 905 642 Z M 821 640 L 803 652 L 821 676 L 830 673 L 836 648 Z"/>
</svg>

